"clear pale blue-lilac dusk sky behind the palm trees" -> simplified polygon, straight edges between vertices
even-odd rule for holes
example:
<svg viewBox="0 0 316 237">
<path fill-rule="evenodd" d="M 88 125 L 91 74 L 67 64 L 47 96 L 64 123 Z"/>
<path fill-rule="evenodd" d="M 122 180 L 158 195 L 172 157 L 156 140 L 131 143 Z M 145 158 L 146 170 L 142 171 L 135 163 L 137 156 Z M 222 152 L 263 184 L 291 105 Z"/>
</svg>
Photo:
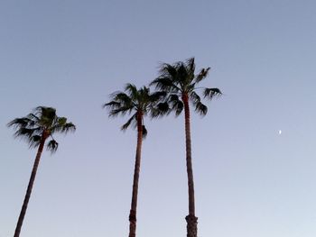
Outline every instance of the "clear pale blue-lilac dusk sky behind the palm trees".
<svg viewBox="0 0 316 237">
<path fill-rule="evenodd" d="M 6 123 L 38 105 L 78 127 L 44 152 L 23 237 L 127 236 L 135 131 L 108 95 L 196 58 L 225 94 L 192 115 L 200 237 L 316 236 L 312 0 L 0 2 L 0 237 L 13 236 L 36 150 Z M 183 117 L 146 120 L 138 237 L 185 236 Z M 279 130 L 282 133 L 279 134 Z"/>
</svg>

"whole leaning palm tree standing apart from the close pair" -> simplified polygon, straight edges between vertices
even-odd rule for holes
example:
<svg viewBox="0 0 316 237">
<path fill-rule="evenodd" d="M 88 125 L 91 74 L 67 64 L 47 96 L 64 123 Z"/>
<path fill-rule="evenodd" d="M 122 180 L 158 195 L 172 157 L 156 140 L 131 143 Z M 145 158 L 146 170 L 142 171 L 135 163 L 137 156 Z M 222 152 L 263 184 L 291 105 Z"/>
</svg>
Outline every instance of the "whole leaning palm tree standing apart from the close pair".
<svg viewBox="0 0 316 237">
<path fill-rule="evenodd" d="M 45 141 L 47 139 L 51 139 L 50 141 L 48 141 L 46 147 L 47 150 L 55 152 L 58 148 L 58 142 L 52 137 L 52 134 L 55 132 L 75 131 L 76 127 L 72 123 L 67 123 L 67 118 L 58 117 L 54 108 L 44 106 L 36 107 L 33 113 L 28 114 L 27 116 L 22 118 L 16 118 L 7 125 L 9 127 L 14 127 L 14 136 L 16 138 L 23 138 L 29 143 L 30 148 L 38 148 L 33 164 L 31 178 L 26 190 L 21 213 L 19 215 L 19 219 L 14 232 L 14 237 L 18 237 L 20 236 L 23 219 L 32 193 L 36 171 L 41 160 L 42 150 L 45 145 Z"/>
</svg>

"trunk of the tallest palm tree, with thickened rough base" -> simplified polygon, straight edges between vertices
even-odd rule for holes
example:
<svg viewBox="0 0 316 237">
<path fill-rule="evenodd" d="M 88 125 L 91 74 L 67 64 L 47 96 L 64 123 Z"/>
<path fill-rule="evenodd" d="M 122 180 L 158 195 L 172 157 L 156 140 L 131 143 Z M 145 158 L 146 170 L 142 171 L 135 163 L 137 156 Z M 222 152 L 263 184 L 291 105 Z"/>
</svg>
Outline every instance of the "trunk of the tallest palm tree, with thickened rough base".
<svg viewBox="0 0 316 237">
<path fill-rule="evenodd" d="M 190 108 L 188 95 L 182 96 L 184 104 L 184 121 L 185 121 L 185 147 L 188 174 L 188 191 L 189 191 L 189 215 L 185 217 L 187 221 L 187 237 L 198 236 L 198 217 L 195 216 L 194 202 L 194 181 L 191 157 L 191 128 L 190 128 Z"/>
</svg>

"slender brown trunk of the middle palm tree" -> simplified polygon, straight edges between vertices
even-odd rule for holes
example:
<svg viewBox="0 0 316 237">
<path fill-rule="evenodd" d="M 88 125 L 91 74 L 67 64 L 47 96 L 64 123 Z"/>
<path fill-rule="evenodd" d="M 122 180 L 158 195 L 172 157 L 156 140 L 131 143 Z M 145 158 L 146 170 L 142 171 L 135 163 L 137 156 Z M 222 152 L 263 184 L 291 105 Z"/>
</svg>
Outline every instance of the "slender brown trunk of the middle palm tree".
<svg viewBox="0 0 316 237">
<path fill-rule="evenodd" d="M 129 213 L 129 237 L 136 236 L 136 209 L 137 209 L 137 194 L 138 194 L 138 180 L 141 166 L 141 153 L 142 153 L 142 141 L 143 141 L 143 114 L 137 113 L 137 147 L 135 155 L 135 170 L 133 180 L 133 194 L 131 210 Z"/>
</svg>

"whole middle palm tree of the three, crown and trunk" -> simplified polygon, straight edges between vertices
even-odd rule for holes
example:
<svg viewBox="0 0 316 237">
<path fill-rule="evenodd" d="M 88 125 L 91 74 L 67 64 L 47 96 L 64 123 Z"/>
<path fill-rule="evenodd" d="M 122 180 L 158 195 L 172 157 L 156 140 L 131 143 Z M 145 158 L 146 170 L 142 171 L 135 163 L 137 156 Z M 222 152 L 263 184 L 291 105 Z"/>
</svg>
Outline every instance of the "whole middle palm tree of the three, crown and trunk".
<svg viewBox="0 0 316 237">
<path fill-rule="evenodd" d="M 116 117 L 119 114 L 132 114 L 121 127 L 121 130 L 127 129 L 131 124 L 137 129 L 132 203 L 129 213 L 129 237 L 136 236 L 136 209 L 142 141 L 147 134 L 147 130 L 144 126 L 144 116 L 150 114 L 153 117 L 157 117 L 167 112 L 166 104 L 160 103 L 163 96 L 165 96 L 165 93 L 162 92 L 150 93 L 148 87 L 137 89 L 135 85 L 127 84 L 125 86 L 125 92 L 115 92 L 111 95 L 112 101 L 104 105 L 104 107 L 109 109 L 110 117 Z"/>
</svg>

